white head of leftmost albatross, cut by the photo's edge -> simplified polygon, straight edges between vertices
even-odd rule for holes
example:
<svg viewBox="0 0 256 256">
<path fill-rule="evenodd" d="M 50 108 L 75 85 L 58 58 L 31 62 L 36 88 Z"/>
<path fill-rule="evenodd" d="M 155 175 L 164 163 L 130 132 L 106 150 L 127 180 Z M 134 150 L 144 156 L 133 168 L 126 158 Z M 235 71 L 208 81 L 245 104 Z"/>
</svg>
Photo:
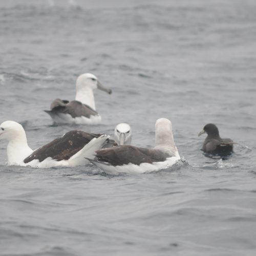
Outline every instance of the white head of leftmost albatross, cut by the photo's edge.
<svg viewBox="0 0 256 256">
<path fill-rule="evenodd" d="M 0 140 L 6 139 L 12 141 L 15 139 L 22 139 L 26 134 L 23 126 L 14 121 L 5 121 L 0 124 Z"/>
</svg>

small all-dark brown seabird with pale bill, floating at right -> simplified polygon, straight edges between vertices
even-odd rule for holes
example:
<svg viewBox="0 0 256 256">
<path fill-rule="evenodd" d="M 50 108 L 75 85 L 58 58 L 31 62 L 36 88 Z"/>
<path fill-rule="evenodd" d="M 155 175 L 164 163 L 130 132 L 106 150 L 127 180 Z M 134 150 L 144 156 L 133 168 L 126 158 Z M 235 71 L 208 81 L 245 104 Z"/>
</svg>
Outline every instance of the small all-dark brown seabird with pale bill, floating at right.
<svg viewBox="0 0 256 256">
<path fill-rule="evenodd" d="M 233 152 L 234 142 L 231 139 L 222 139 L 215 124 L 206 124 L 198 136 L 204 133 L 207 133 L 207 137 L 204 140 L 203 152 L 212 155 L 226 155 Z"/>
</svg>

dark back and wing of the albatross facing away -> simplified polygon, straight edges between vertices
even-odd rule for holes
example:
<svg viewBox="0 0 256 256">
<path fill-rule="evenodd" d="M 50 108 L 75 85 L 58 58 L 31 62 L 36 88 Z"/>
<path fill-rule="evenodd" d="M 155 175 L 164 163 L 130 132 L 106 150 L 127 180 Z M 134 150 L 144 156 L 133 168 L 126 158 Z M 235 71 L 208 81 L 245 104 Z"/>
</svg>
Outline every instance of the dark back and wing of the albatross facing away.
<svg viewBox="0 0 256 256">
<path fill-rule="evenodd" d="M 162 162 L 169 157 L 159 150 L 150 148 L 135 147 L 131 145 L 121 145 L 111 148 L 103 148 L 96 151 L 96 160 L 107 162 L 112 165 L 141 164 Z"/>
</svg>

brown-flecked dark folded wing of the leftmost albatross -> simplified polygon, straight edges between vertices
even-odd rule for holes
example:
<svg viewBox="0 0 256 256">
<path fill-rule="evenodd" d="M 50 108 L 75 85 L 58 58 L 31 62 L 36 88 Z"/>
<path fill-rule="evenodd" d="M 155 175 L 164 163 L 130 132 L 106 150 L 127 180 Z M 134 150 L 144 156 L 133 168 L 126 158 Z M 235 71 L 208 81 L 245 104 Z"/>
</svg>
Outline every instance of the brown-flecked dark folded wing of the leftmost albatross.
<svg viewBox="0 0 256 256">
<path fill-rule="evenodd" d="M 76 154 L 93 138 L 98 138 L 101 134 L 86 133 L 78 130 L 70 131 L 57 138 L 50 143 L 39 147 L 30 156 L 24 159 L 24 163 L 29 163 L 34 159 L 39 162 L 44 161 L 48 157 L 52 157 L 56 161 L 68 160 Z"/>
</svg>

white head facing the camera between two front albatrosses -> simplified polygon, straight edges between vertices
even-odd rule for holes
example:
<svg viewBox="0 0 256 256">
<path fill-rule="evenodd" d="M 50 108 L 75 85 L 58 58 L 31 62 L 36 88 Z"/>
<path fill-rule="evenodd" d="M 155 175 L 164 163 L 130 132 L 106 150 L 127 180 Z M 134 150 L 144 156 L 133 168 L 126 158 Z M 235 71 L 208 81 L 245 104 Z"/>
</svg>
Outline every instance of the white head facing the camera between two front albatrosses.
<svg viewBox="0 0 256 256">
<path fill-rule="evenodd" d="M 114 139 L 118 145 L 129 145 L 132 142 L 132 129 L 127 123 L 119 123 L 115 127 Z"/>
</svg>

